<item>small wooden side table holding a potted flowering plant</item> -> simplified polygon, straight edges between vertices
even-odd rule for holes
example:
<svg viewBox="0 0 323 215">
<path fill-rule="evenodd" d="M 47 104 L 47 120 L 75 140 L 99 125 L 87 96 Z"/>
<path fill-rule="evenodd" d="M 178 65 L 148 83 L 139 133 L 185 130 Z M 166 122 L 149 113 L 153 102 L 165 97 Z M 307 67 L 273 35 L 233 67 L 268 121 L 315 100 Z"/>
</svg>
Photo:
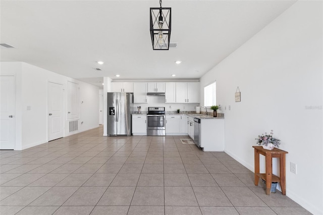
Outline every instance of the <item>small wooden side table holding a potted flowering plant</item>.
<svg viewBox="0 0 323 215">
<path fill-rule="evenodd" d="M 258 186 L 259 178 L 266 181 L 266 194 L 271 194 L 272 182 L 279 182 L 282 188 L 282 194 L 286 195 L 286 168 L 285 155 L 287 151 L 279 148 L 267 150 L 262 146 L 252 146 L 254 148 L 254 185 Z M 259 173 L 259 154 L 266 158 L 266 173 Z M 279 157 L 280 177 L 273 175 L 273 157 Z"/>
</svg>

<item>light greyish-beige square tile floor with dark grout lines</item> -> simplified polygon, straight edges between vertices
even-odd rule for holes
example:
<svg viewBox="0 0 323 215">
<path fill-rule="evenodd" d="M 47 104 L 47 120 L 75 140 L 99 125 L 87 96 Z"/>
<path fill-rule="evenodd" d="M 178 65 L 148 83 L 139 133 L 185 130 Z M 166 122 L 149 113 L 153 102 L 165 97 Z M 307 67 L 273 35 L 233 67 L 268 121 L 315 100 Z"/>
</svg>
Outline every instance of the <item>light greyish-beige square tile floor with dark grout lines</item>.
<svg viewBox="0 0 323 215">
<path fill-rule="evenodd" d="M 310 214 L 225 152 L 187 136 L 103 137 L 99 127 L 0 150 L 0 214 Z"/>
</svg>

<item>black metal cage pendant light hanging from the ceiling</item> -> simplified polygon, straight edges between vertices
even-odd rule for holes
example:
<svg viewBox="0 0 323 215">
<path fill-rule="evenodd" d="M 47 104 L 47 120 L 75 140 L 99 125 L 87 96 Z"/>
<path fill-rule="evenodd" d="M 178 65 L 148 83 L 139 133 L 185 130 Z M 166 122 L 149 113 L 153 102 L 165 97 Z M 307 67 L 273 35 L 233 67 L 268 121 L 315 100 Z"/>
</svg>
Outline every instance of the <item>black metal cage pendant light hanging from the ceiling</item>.
<svg viewBox="0 0 323 215">
<path fill-rule="evenodd" d="M 171 8 L 150 8 L 150 37 L 153 50 L 168 50 L 171 40 Z"/>
</svg>

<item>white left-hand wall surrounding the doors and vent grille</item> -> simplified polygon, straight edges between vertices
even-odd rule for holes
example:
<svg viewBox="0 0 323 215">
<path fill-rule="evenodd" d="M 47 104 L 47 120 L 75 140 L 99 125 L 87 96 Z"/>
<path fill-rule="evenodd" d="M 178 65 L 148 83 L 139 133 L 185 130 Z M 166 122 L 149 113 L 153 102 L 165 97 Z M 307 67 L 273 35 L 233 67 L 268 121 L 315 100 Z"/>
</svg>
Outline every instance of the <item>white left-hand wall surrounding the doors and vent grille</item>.
<svg viewBox="0 0 323 215">
<path fill-rule="evenodd" d="M 80 104 L 79 130 L 75 133 L 98 127 L 98 87 L 22 62 L 0 64 L 1 75 L 16 76 L 16 150 L 47 142 L 49 81 L 64 86 L 65 113 L 67 81 L 79 83 L 80 100 L 84 102 Z M 30 106 L 30 111 L 27 111 L 27 106 Z M 64 136 L 68 136 L 68 121 L 65 120 L 64 124 Z"/>
</svg>

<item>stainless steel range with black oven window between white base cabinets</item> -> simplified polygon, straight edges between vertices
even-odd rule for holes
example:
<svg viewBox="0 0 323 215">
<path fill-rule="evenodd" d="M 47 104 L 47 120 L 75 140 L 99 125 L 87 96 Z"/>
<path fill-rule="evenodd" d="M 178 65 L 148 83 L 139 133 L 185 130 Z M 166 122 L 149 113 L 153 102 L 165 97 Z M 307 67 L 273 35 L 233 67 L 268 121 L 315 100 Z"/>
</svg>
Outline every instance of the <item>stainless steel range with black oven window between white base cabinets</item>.
<svg viewBox="0 0 323 215">
<path fill-rule="evenodd" d="M 149 107 L 147 114 L 147 135 L 165 136 L 165 107 Z"/>
</svg>

